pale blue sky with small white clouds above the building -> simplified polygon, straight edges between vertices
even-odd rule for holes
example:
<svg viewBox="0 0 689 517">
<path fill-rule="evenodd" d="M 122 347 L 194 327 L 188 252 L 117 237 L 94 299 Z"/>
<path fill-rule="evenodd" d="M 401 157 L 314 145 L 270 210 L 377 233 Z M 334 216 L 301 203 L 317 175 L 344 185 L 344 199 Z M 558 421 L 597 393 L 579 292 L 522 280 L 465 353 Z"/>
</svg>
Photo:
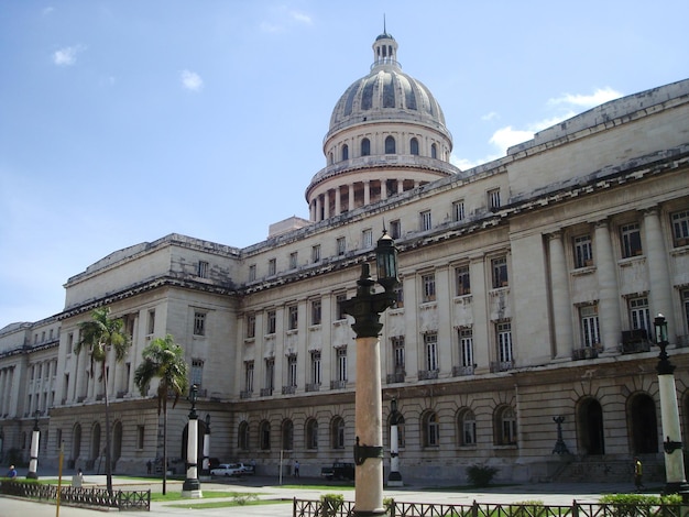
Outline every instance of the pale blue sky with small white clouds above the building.
<svg viewBox="0 0 689 517">
<path fill-rule="evenodd" d="M 59 312 L 112 251 L 172 232 L 243 248 L 308 218 L 383 15 L 460 168 L 689 76 L 686 0 L 0 0 L 0 328 Z"/>
</svg>

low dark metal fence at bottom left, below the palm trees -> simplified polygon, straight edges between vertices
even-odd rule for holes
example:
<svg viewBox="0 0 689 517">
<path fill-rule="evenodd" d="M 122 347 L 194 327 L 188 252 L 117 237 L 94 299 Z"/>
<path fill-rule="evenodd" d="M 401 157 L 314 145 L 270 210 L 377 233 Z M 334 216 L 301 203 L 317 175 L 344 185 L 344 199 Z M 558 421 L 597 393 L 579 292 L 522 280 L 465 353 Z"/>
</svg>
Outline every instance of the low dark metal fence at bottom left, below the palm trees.
<svg viewBox="0 0 689 517">
<path fill-rule="evenodd" d="M 29 497 L 32 499 L 57 499 L 57 485 L 22 483 L 19 481 L 0 482 L 0 493 Z M 67 506 L 95 506 L 118 508 L 120 510 L 151 510 L 151 491 L 112 491 L 106 488 L 84 488 L 62 486 L 59 501 Z"/>
</svg>

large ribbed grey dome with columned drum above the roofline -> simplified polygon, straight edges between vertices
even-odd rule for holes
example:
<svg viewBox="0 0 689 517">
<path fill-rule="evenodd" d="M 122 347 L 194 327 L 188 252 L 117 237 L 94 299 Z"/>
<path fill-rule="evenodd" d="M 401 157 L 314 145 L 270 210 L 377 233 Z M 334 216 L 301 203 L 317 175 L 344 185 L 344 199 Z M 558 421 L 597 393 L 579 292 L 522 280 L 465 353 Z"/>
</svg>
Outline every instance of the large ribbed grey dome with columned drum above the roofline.
<svg viewBox="0 0 689 517">
<path fill-rule="evenodd" d="M 371 73 L 332 111 L 327 165 L 306 189 L 313 221 L 460 173 L 449 163 L 452 139 L 442 110 L 426 86 L 402 73 L 397 42 L 381 34 L 373 57 Z"/>
</svg>

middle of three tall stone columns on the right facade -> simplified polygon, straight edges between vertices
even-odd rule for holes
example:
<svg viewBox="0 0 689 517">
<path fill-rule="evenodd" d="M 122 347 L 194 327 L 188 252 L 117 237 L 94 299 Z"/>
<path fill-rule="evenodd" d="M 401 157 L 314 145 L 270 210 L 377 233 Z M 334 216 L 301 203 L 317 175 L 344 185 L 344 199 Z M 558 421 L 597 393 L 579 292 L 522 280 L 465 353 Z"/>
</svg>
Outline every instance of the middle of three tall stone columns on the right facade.
<svg viewBox="0 0 689 517">
<path fill-rule="evenodd" d="M 604 351 L 616 351 L 622 336 L 620 317 L 620 289 L 617 288 L 617 271 L 608 220 L 595 223 L 595 240 L 593 242 L 595 268 L 600 293 L 599 324 Z"/>
</svg>

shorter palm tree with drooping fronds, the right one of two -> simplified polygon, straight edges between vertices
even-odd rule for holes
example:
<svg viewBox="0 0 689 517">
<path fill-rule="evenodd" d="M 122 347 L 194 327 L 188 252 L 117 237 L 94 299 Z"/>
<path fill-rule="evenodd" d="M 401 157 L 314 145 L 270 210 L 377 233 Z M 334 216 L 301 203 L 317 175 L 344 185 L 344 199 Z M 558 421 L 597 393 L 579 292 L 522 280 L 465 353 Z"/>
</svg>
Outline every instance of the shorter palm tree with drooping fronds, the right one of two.
<svg viewBox="0 0 689 517">
<path fill-rule="evenodd" d="M 184 350 L 169 334 L 156 338 L 143 350 L 143 362 L 134 371 L 134 384 L 142 396 L 149 393 L 153 377 L 158 377 L 157 415 L 163 410 L 163 495 L 167 484 L 167 397 L 174 395 L 173 409 L 179 396 L 187 392 L 187 363 Z"/>
</svg>

